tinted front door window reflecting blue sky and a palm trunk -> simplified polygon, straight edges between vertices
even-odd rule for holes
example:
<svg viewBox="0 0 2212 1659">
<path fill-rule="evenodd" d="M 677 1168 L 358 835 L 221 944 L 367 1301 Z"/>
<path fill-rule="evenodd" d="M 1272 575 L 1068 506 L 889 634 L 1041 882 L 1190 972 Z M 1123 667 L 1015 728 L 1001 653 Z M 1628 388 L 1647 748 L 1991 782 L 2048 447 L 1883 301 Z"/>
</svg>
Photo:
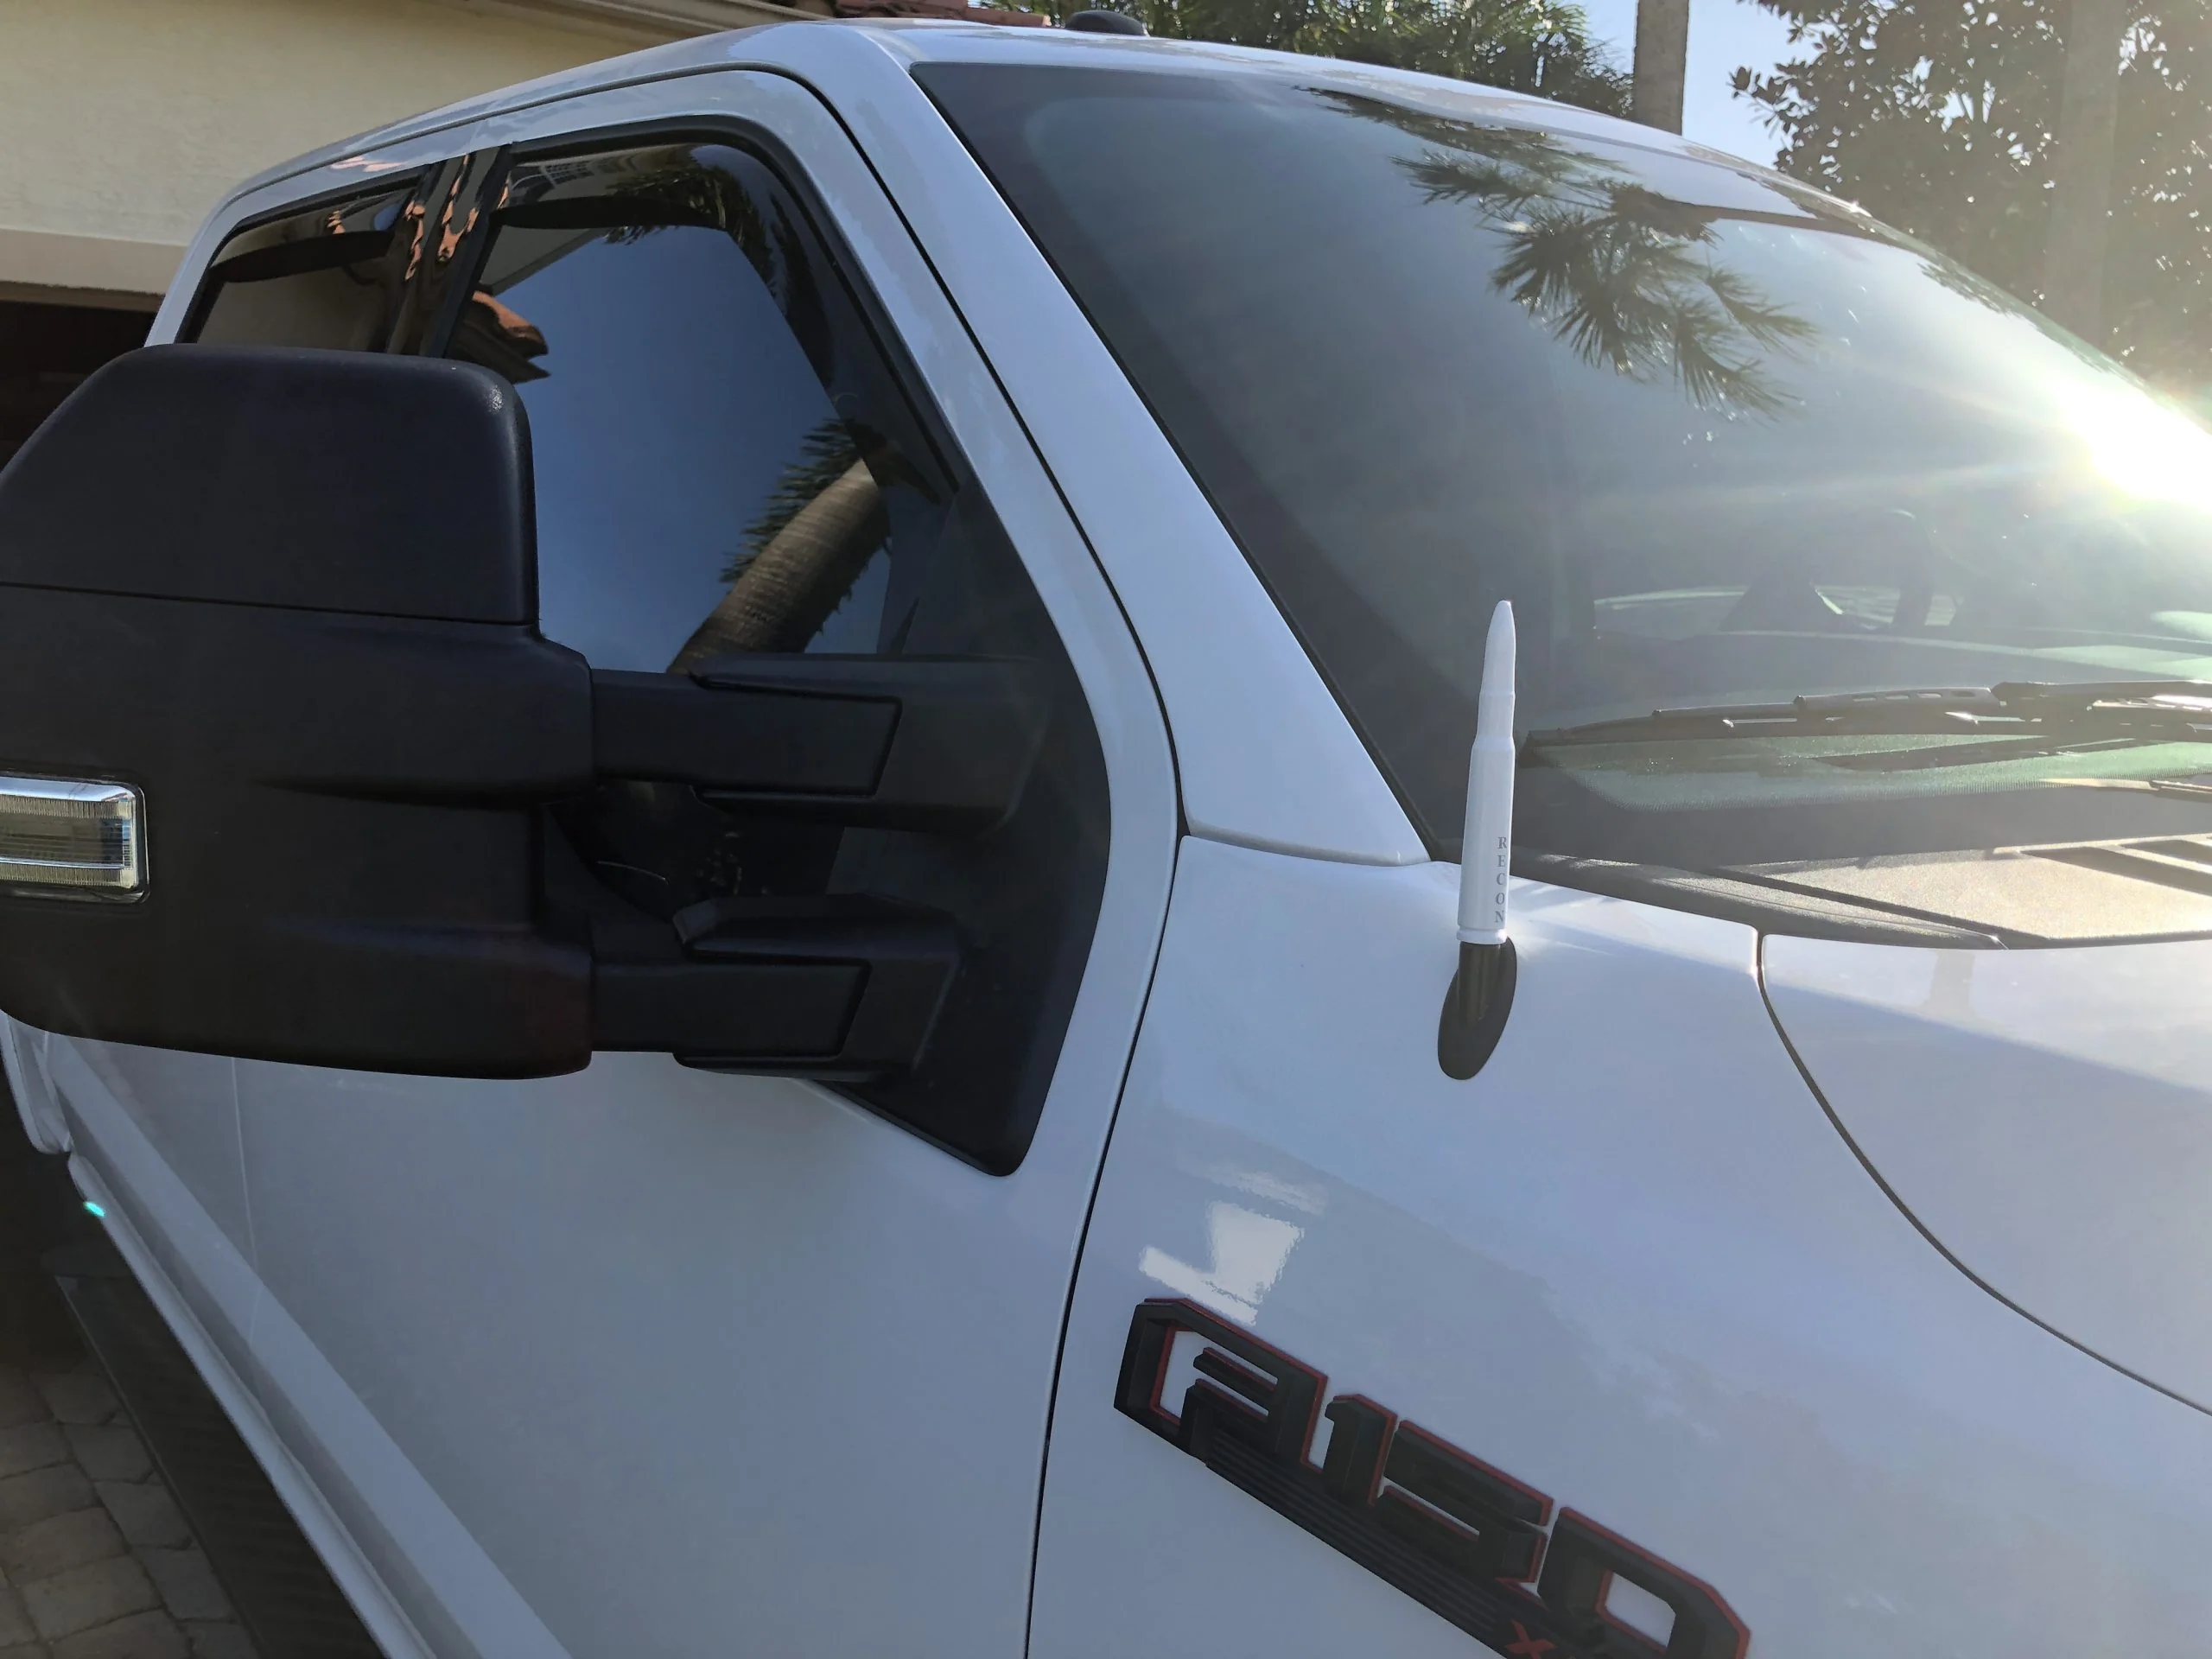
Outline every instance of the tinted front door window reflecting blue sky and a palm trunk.
<svg viewBox="0 0 2212 1659">
<path fill-rule="evenodd" d="M 451 354 L 522 394 L 540 626 L 597 668 L 876 650 L 896 551 L 942 522 L 849 296 L 741 150 L 520 164 Z"/>
</svg>

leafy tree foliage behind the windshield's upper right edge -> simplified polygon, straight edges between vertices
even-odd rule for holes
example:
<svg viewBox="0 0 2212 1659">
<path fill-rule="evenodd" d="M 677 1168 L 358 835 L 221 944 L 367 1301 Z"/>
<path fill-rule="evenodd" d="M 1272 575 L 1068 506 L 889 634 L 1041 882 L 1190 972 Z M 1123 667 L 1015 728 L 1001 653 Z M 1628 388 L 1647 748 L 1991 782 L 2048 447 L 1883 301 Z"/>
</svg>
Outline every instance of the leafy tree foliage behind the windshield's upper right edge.
<svg viewBox="0 0 2212 1659">
<path fill-rule="evenodd" d="M 1739 69 L 1778 166 L 2039 299 L 2068 0 L 1756 0 L 1796 53 Z M 2119 66 L 2108 349 L 2212 383 L 2212 0 L 2135 0 Z"/>
</svg>

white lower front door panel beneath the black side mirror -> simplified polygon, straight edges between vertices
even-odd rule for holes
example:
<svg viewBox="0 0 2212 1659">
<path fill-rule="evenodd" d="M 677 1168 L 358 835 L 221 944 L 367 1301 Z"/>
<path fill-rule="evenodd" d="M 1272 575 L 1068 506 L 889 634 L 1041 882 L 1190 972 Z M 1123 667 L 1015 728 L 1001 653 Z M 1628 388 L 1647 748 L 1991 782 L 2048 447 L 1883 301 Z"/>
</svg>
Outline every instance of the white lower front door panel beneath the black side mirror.
<svg viewBox="0 0 2212 1659">
<path fill-rule="evenodd" d="M 571 1652 L 1018 1650 L 1068 1245 L 1004 1181 L 659 1055 L 243 1099 L 268 1294 Z"/>
</svg>

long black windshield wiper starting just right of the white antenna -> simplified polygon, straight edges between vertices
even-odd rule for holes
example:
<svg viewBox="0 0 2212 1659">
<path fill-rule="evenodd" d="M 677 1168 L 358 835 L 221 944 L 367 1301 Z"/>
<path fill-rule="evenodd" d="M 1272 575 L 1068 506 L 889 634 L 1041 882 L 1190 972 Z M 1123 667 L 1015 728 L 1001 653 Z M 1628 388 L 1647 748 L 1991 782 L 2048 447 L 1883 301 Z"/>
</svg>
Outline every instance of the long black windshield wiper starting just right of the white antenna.
<svg viewBox="0 0 2212 1659">
<path fill-rule="evenodd" d="M 1524 748 L 1652 743 L 1701 737 L 2084 732 L 2159 743 L 2212 741 L 2212 681 L 2121 679 L 2079 684 L 2008 679 L 1997 686 L 1827 692 L 1787 703 L 1655 708 L 1628 719 L 1531 732 Z"/>
</svg>

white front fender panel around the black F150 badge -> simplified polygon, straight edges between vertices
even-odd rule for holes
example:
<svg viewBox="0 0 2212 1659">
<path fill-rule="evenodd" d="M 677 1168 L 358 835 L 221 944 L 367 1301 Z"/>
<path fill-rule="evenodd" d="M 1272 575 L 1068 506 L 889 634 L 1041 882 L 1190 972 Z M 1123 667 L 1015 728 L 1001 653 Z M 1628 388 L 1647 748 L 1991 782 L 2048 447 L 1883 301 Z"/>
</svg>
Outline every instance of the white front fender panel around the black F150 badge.
<svg viewBox="0 0 2212 1659">
<path fill-rule="evenodd" d="M 1453 876 L 1186 843 L 1062 1365 L 1037 1659 L 1480 1652 L 1115 1409 L 1150 1298 L 1701 1579 L 1750 1655 L 2199 1650 L 2212 1418 L 1920 1239 L 1776 1040 L 1754 933 L 1520 883 L 1513 1018 L 1455 1084 Z"/>
</svg>

